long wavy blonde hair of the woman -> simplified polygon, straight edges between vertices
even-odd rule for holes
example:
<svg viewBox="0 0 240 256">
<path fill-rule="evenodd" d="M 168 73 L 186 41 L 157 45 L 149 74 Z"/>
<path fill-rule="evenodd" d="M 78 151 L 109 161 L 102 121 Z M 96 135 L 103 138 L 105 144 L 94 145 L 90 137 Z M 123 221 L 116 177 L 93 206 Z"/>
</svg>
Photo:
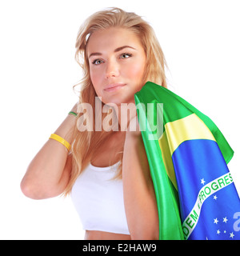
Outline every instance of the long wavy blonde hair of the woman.
<svg viewBox="0 0 240 256">
<path fill-rule="evenodd" d="M 146 54 L 146 70 L 143 77 L 142 85 L 147 81 L 155 82 L 160 86 L 166 87 L 165 67 L 166 61 L 159 45 L 158 39 L 154 34 L 153 28 L 144 21 L 140 16 L 134 13 L 126 12 L 119 8 L 110 8 L 98 11 L 86 19 L 78 30 L 76 40 L 75 59 L 82 67 L 83 78 L 81 81 L 82 89 L 79 96 L 79 102 L 90 103 L 94 108 L 95 97 L 97 97 L 94 86 L 90 79 L 90 66 L 86 54 L 87 42 L 97 30 L 106 30 L 110 27 L 121 27 L 132 31 L 138 36 L 142 42 L 143 49 Z M 103 106 L 103 103 L 102 103 Z M 100 110 L 99 110 L 100 111 Z M 94 111 L 93 111 L 94 114 Z M 102 120 L 107 114 L 102 113 Z M 78 114 L 77 120 L 80 117 Z M 93 121 L 95 117 L 93 117 Z M 93 128 L 94 128 L 93 123 Z M 70 182 L 66 186 L 64 194 L 69 194 L 78 175 L 82 173 L 90 162 L 91 157 L 99 149 L 99 146 L 107 138 L 114 134 L 114 131 L 79 131 L 78 127 L 74 130 L 74 142 L 72 144 L 72 171 L 70 174 Z M 119 161 L 122 161 L 122 152 L 118 154 Z M 118 177 L 122 177 L 122 165 L 119 167 Z"/>
</svg>

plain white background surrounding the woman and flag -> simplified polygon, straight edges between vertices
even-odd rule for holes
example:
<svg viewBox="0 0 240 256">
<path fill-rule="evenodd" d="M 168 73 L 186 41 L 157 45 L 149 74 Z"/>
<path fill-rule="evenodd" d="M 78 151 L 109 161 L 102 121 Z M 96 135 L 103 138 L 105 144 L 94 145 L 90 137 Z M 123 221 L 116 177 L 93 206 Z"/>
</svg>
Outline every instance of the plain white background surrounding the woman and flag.
<svg viewBox="0 0 240 256">
<path fill-rule="evenodd" d="M 79 26 L 118 6 L 154 27 L 170 68 L 171 88 L 214 120 L 235 151 L 238 193 L 239 1 L 1 0 L 1 239 L 82 239 L 70 198 L 34 201 L 19 184 L 31 159 L 78 101 L 74 61 Z"/>
</svg>

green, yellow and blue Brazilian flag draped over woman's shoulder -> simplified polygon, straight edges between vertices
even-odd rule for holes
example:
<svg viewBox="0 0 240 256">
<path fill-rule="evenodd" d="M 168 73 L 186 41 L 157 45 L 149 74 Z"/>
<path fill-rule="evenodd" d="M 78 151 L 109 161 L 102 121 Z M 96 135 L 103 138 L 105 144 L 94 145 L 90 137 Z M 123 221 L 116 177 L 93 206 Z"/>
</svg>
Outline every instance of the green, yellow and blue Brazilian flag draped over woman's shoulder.
<svg viewBox="0 0 240 256">
<path fill-rule="evenodd" d="M 158 204 L 159 239 L 240 238 L 240 201 L 226 138 L 205 114 L 162 86 L 134 95 Z"/>
</svg>

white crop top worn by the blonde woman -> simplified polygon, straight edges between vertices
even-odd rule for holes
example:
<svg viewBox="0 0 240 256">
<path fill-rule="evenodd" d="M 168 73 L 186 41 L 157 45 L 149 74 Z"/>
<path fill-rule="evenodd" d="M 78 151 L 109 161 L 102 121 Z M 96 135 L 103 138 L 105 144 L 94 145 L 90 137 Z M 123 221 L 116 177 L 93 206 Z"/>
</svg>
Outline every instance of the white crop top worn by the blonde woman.
<svg viewBox="0 0 240 256">
<path fill-rule="evenodd" d="M 84 230 L 130 234 L 126 223 L 122 179 L 114 179 L 119 162 L 113 166 L 89 164 L 79 175 L 71 198 Z"/>
</svg>

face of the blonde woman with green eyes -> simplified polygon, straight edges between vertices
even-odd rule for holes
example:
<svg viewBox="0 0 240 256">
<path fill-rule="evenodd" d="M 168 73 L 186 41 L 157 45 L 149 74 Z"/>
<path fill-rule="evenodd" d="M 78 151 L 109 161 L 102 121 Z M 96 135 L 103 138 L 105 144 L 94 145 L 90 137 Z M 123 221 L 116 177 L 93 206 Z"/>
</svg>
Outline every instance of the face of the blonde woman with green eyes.
<svg viewBox="0 0 240 256">
<path fill-rule="evenodd" d="M 86 52 L 90 78 L 102 102 L 134 102 L 134 94 L 143 85 L 146 64 L 139 38 L 123 28 L 98 30 L 91 34 Z"/>
</svg>

